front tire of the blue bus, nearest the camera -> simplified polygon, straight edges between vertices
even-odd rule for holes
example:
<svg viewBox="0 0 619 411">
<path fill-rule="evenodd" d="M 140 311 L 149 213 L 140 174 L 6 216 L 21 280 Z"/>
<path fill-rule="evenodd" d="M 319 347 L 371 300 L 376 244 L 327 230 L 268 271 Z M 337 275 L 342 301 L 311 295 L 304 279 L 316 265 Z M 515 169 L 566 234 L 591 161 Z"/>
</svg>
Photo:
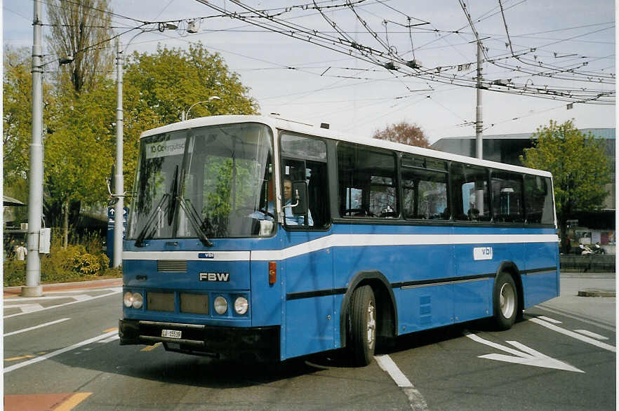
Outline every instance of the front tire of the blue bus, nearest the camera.
<svg viewBox="0 0 619 411">
<path fill-rule="evenodd" d="M 376 346 L 376 302 L 369 285 L 354 290 L 349 314 L 352 364 L 365 367 L 372 362 Z"/>
</svg>

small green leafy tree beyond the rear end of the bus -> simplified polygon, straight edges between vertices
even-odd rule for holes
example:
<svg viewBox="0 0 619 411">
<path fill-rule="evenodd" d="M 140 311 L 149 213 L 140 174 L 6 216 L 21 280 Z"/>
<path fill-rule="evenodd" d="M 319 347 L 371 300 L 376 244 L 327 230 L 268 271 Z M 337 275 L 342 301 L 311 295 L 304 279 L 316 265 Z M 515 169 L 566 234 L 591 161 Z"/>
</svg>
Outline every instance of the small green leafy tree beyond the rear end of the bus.
<svg viewBox="0 0 619 411">
<path fill-rule="evenodd" d="M 561 244 L 565 244 L 567 220 L 573 213 L 600 208 L 608 196 L 605 185 L 611 182 L 611 166 L 604 140 L 585 135 L 571 120 L 562 124 L 551 120 L 532 140 L 533 147 L 524 149 L 520 160 L 526 167 L 552 173 Z"/>
</svg>

